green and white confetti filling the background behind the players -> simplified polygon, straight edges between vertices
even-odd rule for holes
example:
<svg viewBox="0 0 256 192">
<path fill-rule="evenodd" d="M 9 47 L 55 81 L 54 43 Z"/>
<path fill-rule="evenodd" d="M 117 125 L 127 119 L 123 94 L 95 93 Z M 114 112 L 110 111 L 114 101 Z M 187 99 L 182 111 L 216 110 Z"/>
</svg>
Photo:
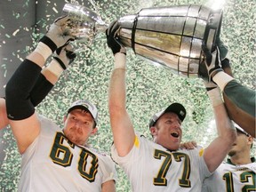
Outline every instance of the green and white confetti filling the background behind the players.
<svg viewBox="0 0 256 192">
<path fill-rule="evenodd" d="M 29 0 L 24 1 L 24 10 L 17 12 L 13 3 L 12 20 L 24 21 L 24 18 L 35 17 L 28 12 Z M 17 38 L 19 44 L 26 37 L 32 38 L 32 44 L 24 44 L 23 49 L 17 48 L 9 56 L 1 58 L 1 77 L 6 77 L 8 67 L 13 60 L 25 59 L 24 55 L 31 52 L 49 27 L 49 22 L 60 16 L 63 6 L 59 1 L 36 1 L 40 5 L 42 18 L 36 20 L 33 26 L 13 26 L 0 24 L 0 49 L 4 50 L 12 38 Z M 64 1 L 61 1 L 62 3 Z M 73 1 L 85 4 L 85 1 Z M 90 2 L 86 2 L 90 5 Z M 176 4 L 206 4 L 206 0 L 101 0 L 92 1 L 91 8 L 97 11 L 101 18 L 110 23 L 124 15 L 134 14 L 142 8 L 149 6 L 167 6 Z M 2 4 L 2 7 L 4 4 Z M 228 45 L 232 68 L 236 79 L 242 84 L 255 89 L 255 2 L 253 0 L 227 1 L 223 9 L 221 39 Z M 37 7 L 38 8 L 38 7 Z M 37 12 L 39 13 L 39 11 Z M 11 20 L 3 17 L 1 20 Z M 5 22 L 6 23 L 6 22 Z M 4 33 L 10 29 L 9 33 Z M 31 33 L 25 36 L 23 33 Z M 23 35 L 23 36 L 22 36 Z M 75 44 L 77 57 L 75 62 L 60 77 L 52 92 L 37 107 L 38 113 L 47 116 L 62 126 L 63 116 L 66 115 L 67 106 L 74 100 L 88 99 L 97 104 L 100 113 L 100 132 L 90 140 L 95 148 L 109 153 L 112 144 L 112 134 L 108 116 L 108 84 L 113 69 L 113 55 L 106 44 L 105 34 L 99 34 L 91 46 Z M 1 52 L 0 52 L 1 53 Z M 17 64 L 18 65 L 18 64 Z M 1 82 L 2 83 L 2 82 Z M 5 83 L 1 84 L 4 88 Z M 173 75 L 164 68 L 157 68 L 127 50 L 127 109 L 137 132 L 150 138 L 148 120 L 156 111 L 166 107 L 173 101 L 182 103 L 188 111 L 182 124 L 183 140 L 196 140 L 198 144 L 207 147 L 216 136 L 212 124 L 212 108 L 205 93 L 204 84 L 200 79 L 188 79 Z M 20 155 L 10 128 L 4 129 L 0 151 L 4 154 L 0 162 L 0 191 L 17 191 L 20 178 Z M 0 134 L 1 136 L 1 134 Z M 0 149 L 1 150 L 1 149 Z M 252 152 L 255 152 L 255 147 Z M 117 167 L 118 168 L 118 167 Z M 118 181 L 116 191 L 132 191 L 124 172 L 118 168 Z M 13 181 L 14 180 L 14 181 Z"/>
</svg>

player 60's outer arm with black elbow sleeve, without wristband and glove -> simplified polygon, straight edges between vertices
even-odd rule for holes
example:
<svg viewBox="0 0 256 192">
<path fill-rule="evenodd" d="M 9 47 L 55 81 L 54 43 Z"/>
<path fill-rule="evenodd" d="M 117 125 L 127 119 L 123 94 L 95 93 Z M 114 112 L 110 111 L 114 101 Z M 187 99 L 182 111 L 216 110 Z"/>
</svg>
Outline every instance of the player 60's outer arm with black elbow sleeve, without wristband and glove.
<svg viewBox="0 0 256 192">
<path fill-rule="evenodd" d="M 43 65 L 44 57 L 38 52 L 32 52 L 6 85 L 7 116 L 20 154 L 25 152 L 40 132 L 40 124 L 29 99 L 29 92 L 36 84 Z"/>
</svg>

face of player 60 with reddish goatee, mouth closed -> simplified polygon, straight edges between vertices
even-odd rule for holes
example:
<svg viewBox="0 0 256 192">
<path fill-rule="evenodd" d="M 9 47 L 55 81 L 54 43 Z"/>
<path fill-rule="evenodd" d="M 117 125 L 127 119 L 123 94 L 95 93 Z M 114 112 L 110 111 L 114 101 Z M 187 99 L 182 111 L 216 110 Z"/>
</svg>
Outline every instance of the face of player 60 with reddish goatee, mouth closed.
<svg viewBox="0 0 256 192">
<path fill-rule="evenodd" d="M 92 115 L 82 109 L 74 109 L 64 119 L 63 132 L 71 142 L 84 146 L 90 135 L 97 132 L 93 128 L 94 120 Z"/>
</svg>

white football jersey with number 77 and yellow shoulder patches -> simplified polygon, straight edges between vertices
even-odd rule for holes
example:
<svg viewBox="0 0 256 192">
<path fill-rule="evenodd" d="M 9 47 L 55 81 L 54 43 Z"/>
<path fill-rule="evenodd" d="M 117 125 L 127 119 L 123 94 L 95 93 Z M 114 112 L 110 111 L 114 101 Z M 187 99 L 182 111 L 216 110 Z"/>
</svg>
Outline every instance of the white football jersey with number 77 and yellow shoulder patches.
<svg viewBox="0 0 256 192">
<path fill-rule="evenodd" d="M 127 156 L 118 156 L 115 146 L 111 148 L 134 192 L 201 191 L 204 178 L 211 175 L 203 154 L 203 148 L 171 152 L 138 134 Z"/>
</svg>

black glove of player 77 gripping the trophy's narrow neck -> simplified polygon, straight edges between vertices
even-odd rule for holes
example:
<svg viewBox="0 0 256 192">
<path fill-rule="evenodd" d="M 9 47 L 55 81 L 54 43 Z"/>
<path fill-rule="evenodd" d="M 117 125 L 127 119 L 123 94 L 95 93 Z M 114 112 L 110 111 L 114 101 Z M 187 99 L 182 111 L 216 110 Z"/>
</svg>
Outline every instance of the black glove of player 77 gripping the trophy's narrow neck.
<svg viewBox="0 0 256 192">
<path fill-rule="evenodd" d="M 108 29 L 106 30 L 107 36 L 107 44 L 108 47 L 112 50 L 113 54 L 115 55 L 117 52 L 122 52 L 126 54 L 126 50 L 123 45 L 118 42 L 117 33 L 121 27 L 118 24 L 118 20 L 115 20 L 110 23 Z"/>
</svg>

